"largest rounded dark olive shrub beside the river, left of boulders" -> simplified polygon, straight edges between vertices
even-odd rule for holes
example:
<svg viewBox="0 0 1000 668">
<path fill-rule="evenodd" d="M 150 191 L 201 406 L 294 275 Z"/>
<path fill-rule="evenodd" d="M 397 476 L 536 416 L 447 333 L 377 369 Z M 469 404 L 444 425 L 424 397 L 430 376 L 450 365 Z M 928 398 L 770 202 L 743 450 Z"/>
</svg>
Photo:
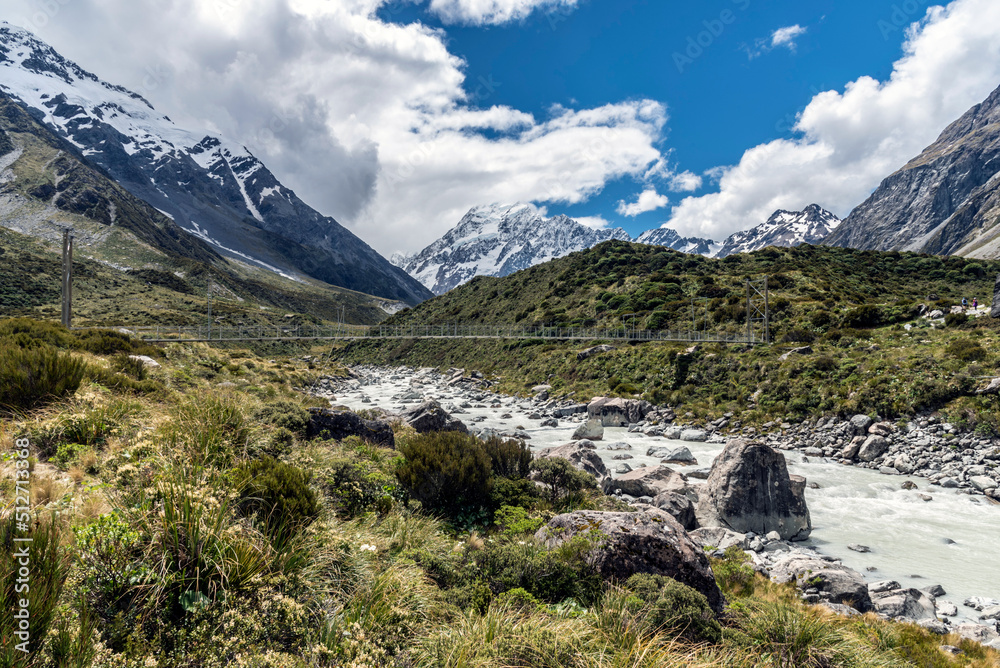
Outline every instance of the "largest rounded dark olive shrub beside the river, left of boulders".
<svg viewBox="0 0 1000 668">
<path fill-rule="evenodd" d="M 459 432 L 420 434 L 399 447 L 405 457 L 396 476 L 432 513 L 457 517 L 490 498 L 490 457 L 482 441 Z"/>
</svg>

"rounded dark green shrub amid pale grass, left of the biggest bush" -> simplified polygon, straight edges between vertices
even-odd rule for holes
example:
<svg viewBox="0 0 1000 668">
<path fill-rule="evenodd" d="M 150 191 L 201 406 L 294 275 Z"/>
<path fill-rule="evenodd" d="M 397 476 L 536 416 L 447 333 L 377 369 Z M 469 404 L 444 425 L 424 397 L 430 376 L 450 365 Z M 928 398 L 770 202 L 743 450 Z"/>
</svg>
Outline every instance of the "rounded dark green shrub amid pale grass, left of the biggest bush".
<svg viewBox="0 0 1000 668">
<path fill-rule="evenodd" d="M 310 474 L 272 457 L 257 459 L 233 471 L 239 508 L 263 520 L 272 535 L 305 527 L 319 514 Z"/>
</svg>

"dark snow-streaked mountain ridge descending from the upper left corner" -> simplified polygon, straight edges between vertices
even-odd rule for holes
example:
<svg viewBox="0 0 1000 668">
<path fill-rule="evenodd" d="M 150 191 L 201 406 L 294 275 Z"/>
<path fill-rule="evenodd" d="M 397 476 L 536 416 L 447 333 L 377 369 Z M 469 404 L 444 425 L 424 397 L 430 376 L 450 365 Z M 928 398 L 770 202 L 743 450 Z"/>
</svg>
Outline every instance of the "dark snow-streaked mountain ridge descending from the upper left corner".
<svg viewBox="0 0 1000 668">
<path fill-rule="evenodd" d="M 0 92 L 223 255 L 416 304 L 430 293 L 278 182 L 245 147 L 192 133 L 141 95 L 0 23 Z"/>
</svg>

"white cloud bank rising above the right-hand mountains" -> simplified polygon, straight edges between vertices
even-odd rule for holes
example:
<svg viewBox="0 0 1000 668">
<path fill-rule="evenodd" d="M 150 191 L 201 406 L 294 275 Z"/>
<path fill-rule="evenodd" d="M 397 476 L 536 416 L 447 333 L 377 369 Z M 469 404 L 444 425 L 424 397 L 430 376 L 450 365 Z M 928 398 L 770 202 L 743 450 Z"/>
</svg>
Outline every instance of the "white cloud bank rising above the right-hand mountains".
<svg viewBox="0 0 1000 668">
<path fill-rule="evenodd" d="M 816 202 L 845 216 L 998 83 L 1000 3 L 933 7 L 909 29 L 888 80 L 862 77 L 816 95 L 798 117 L 798 137 L 751 148 L 738 165 L 714 171 L 719 192 L 682 200 L 670 224 L 685 236 L 722 239 L 779 208 Z"/>
</svg>

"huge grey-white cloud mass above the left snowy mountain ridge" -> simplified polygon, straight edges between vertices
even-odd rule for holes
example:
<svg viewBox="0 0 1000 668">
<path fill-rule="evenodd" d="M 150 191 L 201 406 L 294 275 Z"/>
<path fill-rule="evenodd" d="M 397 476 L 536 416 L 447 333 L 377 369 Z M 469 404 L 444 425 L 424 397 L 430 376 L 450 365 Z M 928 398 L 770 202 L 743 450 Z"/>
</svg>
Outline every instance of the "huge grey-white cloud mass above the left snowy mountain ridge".
<svg viewBox="0 0 1000 668">
<path fill-rule="evenodd" d="M 495 23 L 575 4 L 430 7 Z M 37 7 L 8 0 L 5 15 L 183 127 L 244 143 L 384 254 L 423 248 L 483 202 L 585 201 L 661 157 L 663 105 L 491 106 L 444 32 L 383 20 L 386 0 L 74 0 L 33 20 Z"/>
</svg>

